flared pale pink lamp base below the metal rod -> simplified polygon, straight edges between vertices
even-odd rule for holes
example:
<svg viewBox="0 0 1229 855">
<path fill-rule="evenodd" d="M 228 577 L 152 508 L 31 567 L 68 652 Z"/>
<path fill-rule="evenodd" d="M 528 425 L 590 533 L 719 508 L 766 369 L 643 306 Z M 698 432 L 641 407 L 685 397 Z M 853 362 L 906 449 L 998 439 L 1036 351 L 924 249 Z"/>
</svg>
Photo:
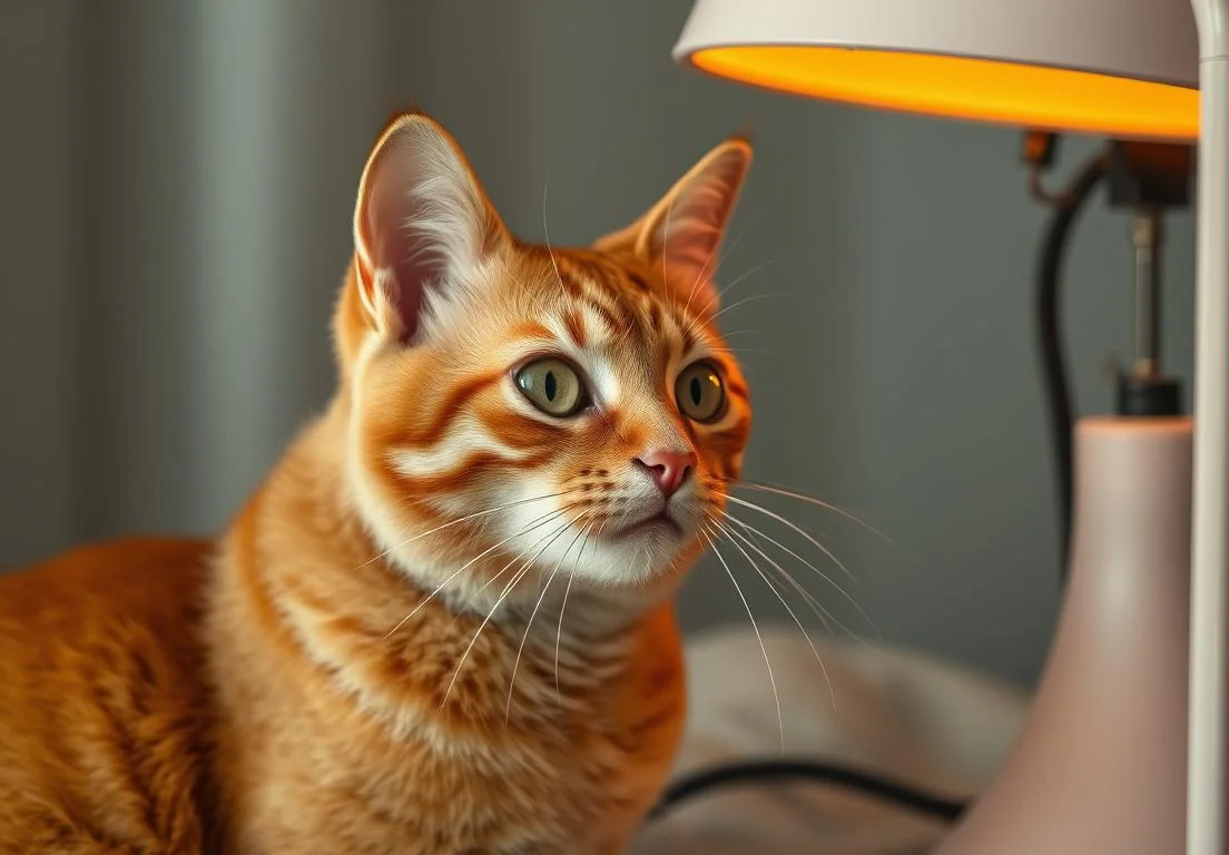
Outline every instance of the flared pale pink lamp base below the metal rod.
<svg viewBox="0 0 1229 855">
<path fill-rule="evenodd" d="M 1179 853 L 1192 421 L 1075 429 L 1068 590 L 1032 710 L 940 855 Z"/>
</svg>

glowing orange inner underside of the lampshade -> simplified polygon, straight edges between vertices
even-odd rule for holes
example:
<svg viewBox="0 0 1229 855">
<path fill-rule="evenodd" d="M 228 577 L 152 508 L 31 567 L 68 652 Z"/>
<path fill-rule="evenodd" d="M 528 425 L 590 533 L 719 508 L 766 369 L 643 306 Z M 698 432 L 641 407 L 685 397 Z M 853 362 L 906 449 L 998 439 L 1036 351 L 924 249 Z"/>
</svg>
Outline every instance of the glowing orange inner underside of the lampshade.
<svg viewBox="0 0 1229 855">
<path fill-rule="evenodd" d="M 691 61 L 767 88 L 913 113 L 1110 136 L 1200 133 L 1198 90 L 1084 71 L 827 47 L 707 48 Z"/>
</svg>

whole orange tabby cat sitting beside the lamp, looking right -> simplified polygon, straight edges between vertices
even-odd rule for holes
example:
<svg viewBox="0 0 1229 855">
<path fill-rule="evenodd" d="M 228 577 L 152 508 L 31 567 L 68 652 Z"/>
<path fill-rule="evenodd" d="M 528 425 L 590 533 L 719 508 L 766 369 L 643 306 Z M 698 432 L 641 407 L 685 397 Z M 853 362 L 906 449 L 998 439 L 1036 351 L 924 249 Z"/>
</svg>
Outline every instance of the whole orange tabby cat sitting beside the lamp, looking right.
<svg viewBox="0 0 1229 855">
<path fill-rule="evenodd" d="M 671 597 L 750 429 L 710 280 L 750 160 L 730 140 L 552 252 L 396 119 L 337 393 L 225 536 L 0 579 L 4 851 L 619 851 L 683 721 Z"/>
</svg>

